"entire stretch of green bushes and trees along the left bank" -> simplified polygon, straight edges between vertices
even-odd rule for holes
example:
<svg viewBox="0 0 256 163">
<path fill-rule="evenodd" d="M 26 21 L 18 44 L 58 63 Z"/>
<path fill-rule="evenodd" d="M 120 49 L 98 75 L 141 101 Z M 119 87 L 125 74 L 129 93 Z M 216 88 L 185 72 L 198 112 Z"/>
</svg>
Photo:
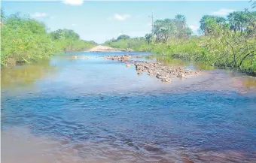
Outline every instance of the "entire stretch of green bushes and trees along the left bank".
<svg viewBox="0 0 256 163">
<path fill-rule="evenodd" d="M 72 30 L 47 33 L 44 23 L 19 14 L 1 12 L 1 65 L 35 62 L 66 50 L 84 50 L 95 44 L 82 41 Z"/>
</svg>

